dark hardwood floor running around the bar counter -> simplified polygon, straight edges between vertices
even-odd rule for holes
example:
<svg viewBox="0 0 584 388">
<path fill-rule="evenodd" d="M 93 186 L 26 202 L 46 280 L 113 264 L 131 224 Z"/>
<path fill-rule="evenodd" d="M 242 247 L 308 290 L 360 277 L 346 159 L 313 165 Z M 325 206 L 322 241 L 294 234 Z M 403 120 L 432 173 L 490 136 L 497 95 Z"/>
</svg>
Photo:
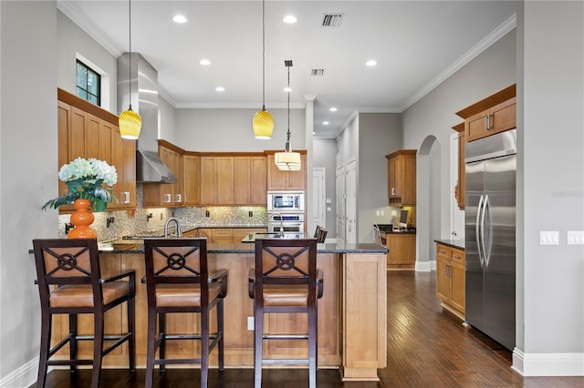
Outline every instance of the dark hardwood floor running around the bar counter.
<svg viewBox="0 0 584 388">
<path fill-rule="evenodd" d="M 495 342 L 465 328 L 443 313 L 435 296 L 435 272 L 388 272 L 388 355 L 381 382 L 343 383 L 339 371 L 320 369 L 318 387 L 584 387 L 584 377 L 522 377 L 511 369 L 511 353 Z M 210 387 L 254 386 L 252 369 L 229 369 L 222 375 L 210 372 Z M 90 373 L 77 375 L 60 370 L 49 373 L 47 388 L 88 387 Z M 101 386 L 138 388 L 144 385 L 144 370 L 103 370 Z M 266 369 L 267 388 L 304 388 L 308 371 Z M 199 385 L 196 369 L 173 369 L 159 377 L 155 386 L 183 388 Z"/>
</svg>

